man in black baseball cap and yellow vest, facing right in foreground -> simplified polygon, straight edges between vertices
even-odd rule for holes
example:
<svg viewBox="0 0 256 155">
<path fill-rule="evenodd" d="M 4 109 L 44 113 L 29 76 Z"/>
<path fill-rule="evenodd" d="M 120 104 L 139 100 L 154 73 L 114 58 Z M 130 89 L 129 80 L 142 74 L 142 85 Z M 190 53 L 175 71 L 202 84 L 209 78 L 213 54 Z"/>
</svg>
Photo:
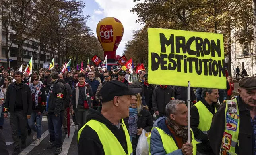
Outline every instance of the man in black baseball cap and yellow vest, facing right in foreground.
<svg viewBox="0 0 256 155">
<path fill-rule="evenodd" d="M 102 108 L 89 109 L 86 124 L 78 132 L 78 155 L 130 155 L 132 144 L 123 118 L 129 117 L 131 95 L 141 88 L 128 88 L 118 80 L 99 91 Z"/>
</svg>

